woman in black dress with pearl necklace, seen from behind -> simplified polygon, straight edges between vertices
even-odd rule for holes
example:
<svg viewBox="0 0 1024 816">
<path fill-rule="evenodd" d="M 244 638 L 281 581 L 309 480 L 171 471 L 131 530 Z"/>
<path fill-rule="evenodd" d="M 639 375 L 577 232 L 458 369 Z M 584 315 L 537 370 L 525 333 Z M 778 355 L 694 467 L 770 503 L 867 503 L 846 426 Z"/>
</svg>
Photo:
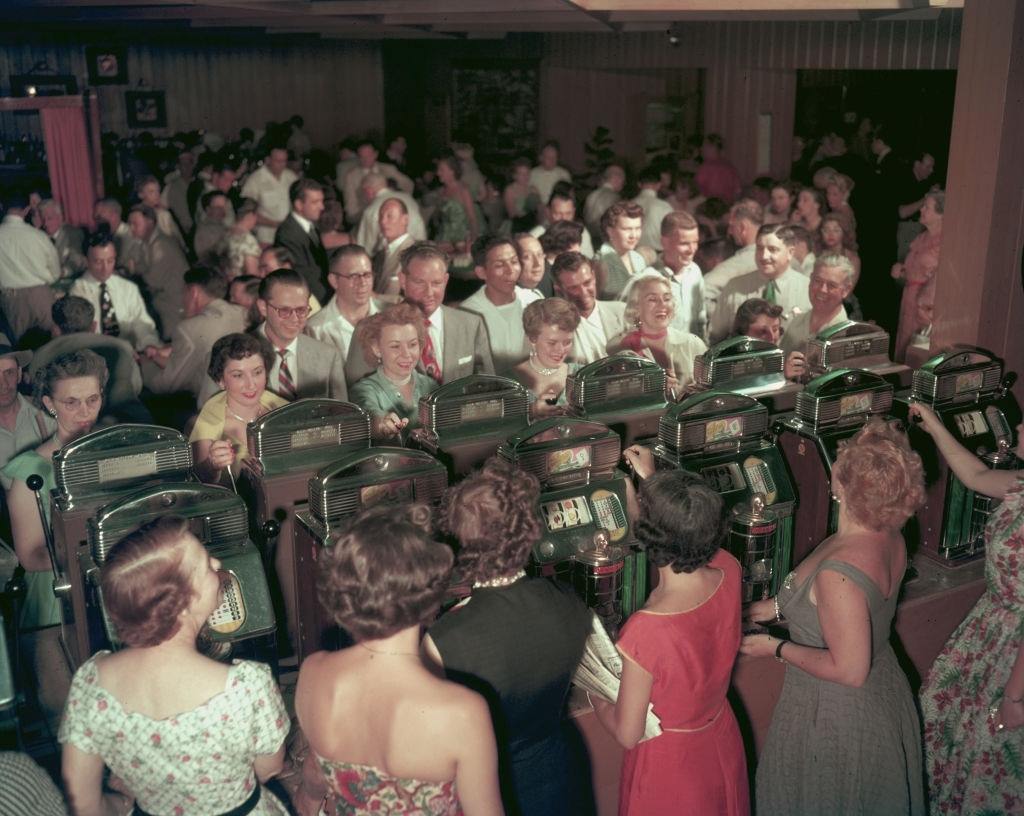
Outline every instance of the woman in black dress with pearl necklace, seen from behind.
<svg viewBox="0 0 1024 816">
<path fill-rule="evenodd" d="M 539 495 L 532 475 L 497 458 L 449 490 L 443 523 L 459 541 L 457 569 L 473 594 L 424 638 L 449 679 L 490 706 L 509 816 L 584 808 L 574 787 L 586 776 L 572 768 L 563 713 L 591 613 L 571 589 L 526 577 L 542 533 Z"/>
</svg>

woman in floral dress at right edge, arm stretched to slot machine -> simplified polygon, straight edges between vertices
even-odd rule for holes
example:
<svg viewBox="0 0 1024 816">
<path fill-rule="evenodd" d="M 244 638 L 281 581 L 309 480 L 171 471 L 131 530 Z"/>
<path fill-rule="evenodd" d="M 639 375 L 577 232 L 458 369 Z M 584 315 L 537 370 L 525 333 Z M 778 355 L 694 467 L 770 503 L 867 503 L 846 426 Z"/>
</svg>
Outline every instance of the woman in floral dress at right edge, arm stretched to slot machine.
<svg viewBox="0 0 1024 816">
<path fill-rule="evenodd" d="M 928 407 L 914 404 L 957 478 L 1001 499 L 985 529 L 985 594 L 935 659 L 921 690 L 933 816 L 1024 812 L 1024 480 L 990 470 Z M 1017 426 L 1018 457 L 1024 425 Z"/>
</svg>

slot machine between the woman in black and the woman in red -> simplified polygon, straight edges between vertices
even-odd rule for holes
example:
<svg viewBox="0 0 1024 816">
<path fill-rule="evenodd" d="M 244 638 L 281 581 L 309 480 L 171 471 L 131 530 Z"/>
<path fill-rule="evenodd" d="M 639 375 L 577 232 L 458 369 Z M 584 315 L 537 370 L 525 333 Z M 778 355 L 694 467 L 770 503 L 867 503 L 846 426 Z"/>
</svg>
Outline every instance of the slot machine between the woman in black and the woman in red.
<svg viewBox="0 0 1024 816">
<path fill-rule="evenodd" d="M 588 576 L 599 581 L 599 588 L 581 594 L 601 597 L 596 611 L 612 629 L 647 597 L 647 559 L 635 547 L 627 476 L 617 469 L 622 449 L 607 425 L 573 417 L 537 422 L 498 448 L 541 482 L 544 534 L 534 547 L 531 571 L 571 581 L 578 590 Z M 583 579 L 574 577 L 581 573 Z"/>
</svg>

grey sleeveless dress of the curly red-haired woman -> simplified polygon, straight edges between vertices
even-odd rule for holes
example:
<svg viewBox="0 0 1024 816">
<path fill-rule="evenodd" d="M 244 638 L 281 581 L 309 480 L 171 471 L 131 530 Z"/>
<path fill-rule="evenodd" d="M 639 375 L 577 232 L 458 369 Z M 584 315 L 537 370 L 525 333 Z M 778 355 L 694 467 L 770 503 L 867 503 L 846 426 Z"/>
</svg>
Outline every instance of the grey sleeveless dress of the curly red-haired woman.
<svg viewBox="0 0 1024 816">
<path fill-rule="evenodd" d="M 778 602 L 795 643 L 826 645 L 817 607 L 808 597 L 822 570 L 845 575 L 867 598 L 871 669 L 864 684 L 854 688 L 786 664 L 759 760 L 757 812 L 922 816 L 921 722 L 910 684 L 889 643 L 899 592 L 884 598 L 873 581 L 845 561 L 822 561 L 799 586 L 791 572 Z"/>
</svg>

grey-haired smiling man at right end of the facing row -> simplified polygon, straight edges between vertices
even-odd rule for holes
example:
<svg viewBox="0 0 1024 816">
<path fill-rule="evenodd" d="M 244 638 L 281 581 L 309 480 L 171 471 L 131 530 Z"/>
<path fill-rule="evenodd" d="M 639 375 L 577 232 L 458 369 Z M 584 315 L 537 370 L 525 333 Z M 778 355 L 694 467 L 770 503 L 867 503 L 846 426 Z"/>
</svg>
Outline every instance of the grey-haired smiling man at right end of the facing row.
<svg viewBox="0 0 1024 816">
<path fill-rule="evenodd" d="M 802 376 L 807 370 L 807 342 L 818 333 L 845 323 L 848 317 L 843 301 L 856 285 L 853 264 L 845 255 L 821 255 L 814 261 L 814 271 L 807 286 L 810 311 L 798 314 L 786 324 L 779 341 L 786 355 L 786 376 Z"/>
</svg>

